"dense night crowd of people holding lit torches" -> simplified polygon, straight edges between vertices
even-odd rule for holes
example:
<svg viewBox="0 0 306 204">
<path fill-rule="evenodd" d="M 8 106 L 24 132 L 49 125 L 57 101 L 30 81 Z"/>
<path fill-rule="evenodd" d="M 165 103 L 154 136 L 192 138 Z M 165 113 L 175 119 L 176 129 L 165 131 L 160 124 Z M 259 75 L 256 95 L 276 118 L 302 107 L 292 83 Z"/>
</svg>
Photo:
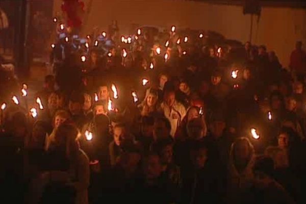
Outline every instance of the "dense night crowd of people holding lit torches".
<svg viewBox="0 0 306 204">
<path fill-rule="evenodd" d="M 0 199 L 304 203 L 301 42 L 285 69 L 264 45 L 175 27 L 129 39 L 114 22 L 81 44 L 62 32 L 37 115 L 2 109 Z"/>
</svg>

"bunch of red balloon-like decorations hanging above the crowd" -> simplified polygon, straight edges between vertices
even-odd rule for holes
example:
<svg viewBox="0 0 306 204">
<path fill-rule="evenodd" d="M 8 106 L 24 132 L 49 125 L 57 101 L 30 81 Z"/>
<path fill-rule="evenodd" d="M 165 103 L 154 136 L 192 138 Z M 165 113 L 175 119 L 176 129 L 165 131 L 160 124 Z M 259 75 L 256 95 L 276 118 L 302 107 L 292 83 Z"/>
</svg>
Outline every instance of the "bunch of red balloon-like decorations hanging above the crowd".
<svg viewBox="0 0 306 204">
<path fill-rule="evenodd" d="M 84 14 L 84 2 L 80 0 L 63 0 L 62 11 L 66 13 L 67 25 L 71 28 L 80 28 Z"/>
</svg>

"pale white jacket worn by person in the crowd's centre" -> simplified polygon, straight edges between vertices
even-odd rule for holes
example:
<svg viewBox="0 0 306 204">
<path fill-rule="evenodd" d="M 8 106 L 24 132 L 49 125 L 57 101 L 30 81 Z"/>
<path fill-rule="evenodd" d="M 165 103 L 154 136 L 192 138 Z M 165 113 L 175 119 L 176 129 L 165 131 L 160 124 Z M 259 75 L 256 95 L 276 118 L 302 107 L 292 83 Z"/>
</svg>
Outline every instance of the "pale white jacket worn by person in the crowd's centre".
<svg viewBox="0 0 306 204">
<path fill-rule="evenodd" d="M 170 135 L 174 137 L 177 127 L 181 124 L 183 118 L 186 115 L 186 109 L 181 103 L 177 102 L 176 100 L 171 109 L 164 103 L 161 104 L 161 108 L 164 111 L 165 117 L 171 123 Z"/>
</svg>

